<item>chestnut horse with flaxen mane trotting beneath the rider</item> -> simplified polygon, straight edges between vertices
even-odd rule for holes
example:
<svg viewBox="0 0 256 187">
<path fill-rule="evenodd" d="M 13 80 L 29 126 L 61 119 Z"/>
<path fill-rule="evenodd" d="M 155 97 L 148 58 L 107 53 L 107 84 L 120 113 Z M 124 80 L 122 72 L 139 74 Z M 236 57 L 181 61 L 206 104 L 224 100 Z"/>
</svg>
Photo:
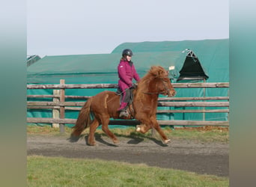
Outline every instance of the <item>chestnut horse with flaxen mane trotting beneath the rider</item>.
<svg viewBox="0 0 256 187">
<path fill-rule="evenodd" d="M 151 67 L 133 91 L 133 117 L 141 122 L 141 125 L 136 126 L 136 131 L 145 133 L 154 128 L 162 137 L 163 143 L 167 144 L 170 140 L 156 121 L 157 99 L 159 94 L 174 96 L 175 93 L 176 91 L 168 78 L 168 71 L 159 66 Z M 71 135 L 79 136 L 84 129 L 90 126 L 88 144 L 95 145 L 94 132 L 102 124 L 103 132 L 112 138 L 114 144 L 117 144 L 118 138 L 109 130 L 108 126 L 110 117 L 119 118 L 119 105 L 120 96 L 113 91 L 103 91 L 92 96 L 79 112 Z M 93 120 L 90 114 L 94 116 Z"/>
</svg>

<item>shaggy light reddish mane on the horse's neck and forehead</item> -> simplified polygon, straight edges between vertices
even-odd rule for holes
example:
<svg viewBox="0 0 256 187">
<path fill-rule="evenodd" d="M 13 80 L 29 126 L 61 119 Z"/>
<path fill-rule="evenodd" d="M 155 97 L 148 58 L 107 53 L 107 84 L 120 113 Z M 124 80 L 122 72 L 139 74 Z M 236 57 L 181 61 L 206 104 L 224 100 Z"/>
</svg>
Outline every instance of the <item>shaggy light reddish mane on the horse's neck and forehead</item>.
<svg viewBox="0 0 256 187">
<path fill-rule="evenodd" d="M 160 66 L 152 66 L 147 74 L 142 77 L 142 79 L 138 82 L 138 89 L 136 91 L 139 98 L 141 98 L 144 94 L 143 92 L 148 92 L 149 83 L 153 79 L 162 79 L 168 76 L 167 71 Z"/>
</svg>

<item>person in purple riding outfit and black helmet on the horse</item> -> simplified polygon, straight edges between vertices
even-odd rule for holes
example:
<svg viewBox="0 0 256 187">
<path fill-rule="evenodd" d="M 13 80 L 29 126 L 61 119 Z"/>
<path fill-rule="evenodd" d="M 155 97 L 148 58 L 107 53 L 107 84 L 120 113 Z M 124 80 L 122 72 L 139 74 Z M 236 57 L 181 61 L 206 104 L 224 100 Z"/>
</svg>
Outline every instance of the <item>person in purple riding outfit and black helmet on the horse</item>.
<svg viewBox="0 0 256 187">
<path fill-rule="evenodd" d="M 140 80 L 140 77 L 138 76 L 138 73 L 136 72 L 135 67 L 131 61 L 132 55 L 133 54 L 131 49 L 124 49 L 122 58 L 118 64 L 118 87 L 123 93 L 121 105 L 120 108 L 118 108 L 118 111 L 121 111 L 119 117 L 127 117 L 125 108 L 129 102 L 129 97 L 131 94 L 131 90 L 129 88 L 135 88 L 135 84 L 132 83 L 132 79 L 135 79 L 137 82 Z"/>
</svg>

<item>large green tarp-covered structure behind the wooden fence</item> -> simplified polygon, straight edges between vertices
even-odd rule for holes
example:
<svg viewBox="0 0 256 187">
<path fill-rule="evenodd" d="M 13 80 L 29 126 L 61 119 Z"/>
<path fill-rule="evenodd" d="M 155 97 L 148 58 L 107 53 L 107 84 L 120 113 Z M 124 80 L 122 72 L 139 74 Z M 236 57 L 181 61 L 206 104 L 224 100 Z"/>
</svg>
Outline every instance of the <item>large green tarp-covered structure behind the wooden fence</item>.
<svg viewBox="0 0 256 187">
<path fill-rule="evenodd" d="M 189 40 L 122 43 L 111 54 L 46 56 L 27 69 L 28 84 L 118 83 L 117 67 L 124 49 L 132 49 L 138 74 L 142 77 L 152 65 L 170 70 L 172 82 L 177 82 L 180 70 L 186 60 L 185 49 L 191 49 L 198 57 L 202 70 L 209 76 L 207 82 L 229 82 L 229 46 L 225 40 Z M 186 80 L 183 82 L 192 82 Z M 197 82 L 202 82 L 198 80 Z M 104 89 L 67 89 L 67 95 L 94 96 Z M 108 89 L 109 90 L 109 89 Z M 115 89 L 111 89 L 115 91 Z M 203 88 L 177 88 L 177 97 L 204 96 Z M 52 90 L 28 90 L 28 94 L 52 94 Z M 228 88 L 207 88 L 205 96 L 228 96 Z M 33 99 L 30 99 L 33 100 Z M 186 107 L 192 109 L 190 107 Z M 161 108 L 161 109 L 168 109 Z M 177 109 L 177 108 L 171 108 Z M 183 109 L 183 108 L 179 108 Z M 28 117 L 51 117 L 51 111 L 28 110 Z M 67 111 L 67 118 L 76 118 L 77 111 Z M 201 113 L 158 114 L 159 120 L 202 120 Z M 225 113 L 207 113 L 205 120 L 228 120 Z"/>
</svg>

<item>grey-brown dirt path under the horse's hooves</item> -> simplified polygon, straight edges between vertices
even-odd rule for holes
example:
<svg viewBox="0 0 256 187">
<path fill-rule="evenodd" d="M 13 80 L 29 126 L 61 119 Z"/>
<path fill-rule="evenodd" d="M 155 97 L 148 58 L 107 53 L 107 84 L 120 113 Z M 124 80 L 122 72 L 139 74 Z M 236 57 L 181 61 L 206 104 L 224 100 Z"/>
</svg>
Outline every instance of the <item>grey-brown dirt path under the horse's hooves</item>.
<svg viewBox="0 0 256 187">
<path fill-rule="evenodd" d="M 97 135 L 97 146 L 86 145 L 65 136 L 28 135 L 28 155 L 63 156 L 144 163 L 160 168 L 174 168 L 198 174 L 228 177 L 228 144 L 173 140 L 165 146 L 156 139 L 118 137 L 120 144 Z"/>
</svg>

